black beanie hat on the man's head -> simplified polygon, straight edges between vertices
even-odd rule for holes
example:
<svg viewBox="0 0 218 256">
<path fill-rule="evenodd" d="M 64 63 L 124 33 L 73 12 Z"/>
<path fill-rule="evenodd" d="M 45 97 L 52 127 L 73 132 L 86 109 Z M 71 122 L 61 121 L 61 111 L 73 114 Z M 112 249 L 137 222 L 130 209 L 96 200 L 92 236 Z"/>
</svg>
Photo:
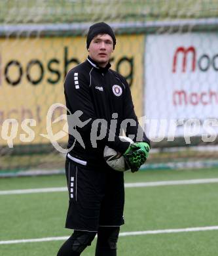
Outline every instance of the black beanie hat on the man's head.
<svg viewBox="0 0 218 256">
<path fill-rule="evenodd" d="M 115 45 L 116 45 L 115 33 L 113 32 L 112 28 L 109 25 L 107 25 L 105 22 L 98 22 L 90 26 L 88 30 L 88 35 L 86 38 L 86 48 L 88 49 L 92 39 L 99 33 L 107 33 L 108 35 L 111 35 L 113 39 L 113 49 L 115 49 Z"/>
</svg>

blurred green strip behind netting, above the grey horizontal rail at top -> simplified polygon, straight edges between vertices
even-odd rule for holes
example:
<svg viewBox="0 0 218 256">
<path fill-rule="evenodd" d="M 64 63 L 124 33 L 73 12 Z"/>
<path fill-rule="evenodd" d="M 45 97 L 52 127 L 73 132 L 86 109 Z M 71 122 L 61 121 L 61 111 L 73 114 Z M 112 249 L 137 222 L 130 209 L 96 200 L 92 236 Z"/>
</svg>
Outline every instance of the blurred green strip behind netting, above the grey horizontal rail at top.
<svg viewBox="0 0 218 256">
<path fill-rule="evenodd" d="M 217 0 L 2 0 L 0 22 L 62 23 L 208 18 L 218 15 Z"/>
</svg>

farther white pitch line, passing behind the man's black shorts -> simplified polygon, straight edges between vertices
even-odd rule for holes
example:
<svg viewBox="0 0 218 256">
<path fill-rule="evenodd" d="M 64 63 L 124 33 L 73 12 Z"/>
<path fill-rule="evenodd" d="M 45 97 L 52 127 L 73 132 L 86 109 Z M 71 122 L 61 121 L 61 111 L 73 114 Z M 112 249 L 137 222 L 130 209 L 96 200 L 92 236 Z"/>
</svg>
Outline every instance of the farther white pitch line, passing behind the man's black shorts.
<svg viewBox="0 0 218 256">
<path fill-rule="evenodd" d="M 134 182 L 125 183 L 125 188 L 140 188 L 149 186 L 172 186 L 172 185 L 189 185 L 189 184 L 208 184 L 217 183 L 218 178 L 213 179 L 191 179 L 191 180 L 180 180 L 180 181 L 154 181 L 154 182 Z M 65 192 L 67 188 L 31 188 L 31 189 L 20 189 L 20 190 L 0 190 L 0 196 L 10 194 L 32 194 L 32 193 L 48 193 L 48 192 Z"/>
</svg>

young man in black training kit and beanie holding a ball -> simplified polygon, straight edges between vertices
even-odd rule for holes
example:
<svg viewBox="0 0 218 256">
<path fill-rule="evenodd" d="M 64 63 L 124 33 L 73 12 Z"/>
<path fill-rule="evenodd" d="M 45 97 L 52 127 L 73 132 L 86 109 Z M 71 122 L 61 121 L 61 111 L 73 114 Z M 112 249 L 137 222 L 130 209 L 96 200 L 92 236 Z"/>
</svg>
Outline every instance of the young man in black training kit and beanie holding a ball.
<svg viewBox="0 0 218 256">
<path fill-rule="evenodd" d="M 65 226 L 74 232 L 58 256 L 81 255 L 96 234 L 96 256 L 117 255 L 118 233 L 124 224 L 124 177 L 105 163 L 103 149 L 107 145 L 124 154 L 132 172 L 148 157 L 149 139 L 137 121 L 129 85 L 122 75 L 110 69 L 109 59 L 115 45 L 115 34 L 109 25 L 100 22 L 91 26 L 86 39 L 88 58 L 70 70 L 65 79 L 67 108 L 71 114 L 80 111 L 80 123 L 84 125 L 77 127 L 82 140 L 73 137 L 70 131 L 75 129 L 75 119 L 72 123 L 68 116 L 68 147 L 72 149 L 65 163 L 69 190 Z M 111 119 L 117 122 L 113 129 Z M 134 144 L 118 137 L 124 119 L 135 124 L 129 123 L 126 128 L 126 136 L 135 135 Z M 105 136 L 100 136 L 101 129 Z M 136 142 L 137 133 L 141 134 L 140 142 Z M 95 144 L 93 137 L 97 135 Z"/>
</svg>

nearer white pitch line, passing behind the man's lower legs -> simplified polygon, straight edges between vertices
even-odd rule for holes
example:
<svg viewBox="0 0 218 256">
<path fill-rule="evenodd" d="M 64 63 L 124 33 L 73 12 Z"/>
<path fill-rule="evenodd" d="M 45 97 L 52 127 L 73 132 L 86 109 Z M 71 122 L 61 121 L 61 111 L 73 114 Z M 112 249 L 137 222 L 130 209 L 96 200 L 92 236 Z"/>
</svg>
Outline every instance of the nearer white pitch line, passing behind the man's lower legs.
<svg viewBox="0 0 218 256">
<path fill-rule="evenodd" d="M 201 226 L 198 228 L 177 228 L 177 229 L 163 229 L 163 230 L 120 232 L 119 236 L 140 236 L 140 235 L 149 235 L 149 234 L 170 234 L 170 233 L 198 232 L 198 231 L 210 231 L 210 230 L 218 230 L 218 226 Z M 60 240 L 67 240 L 68 238 L 69 238 L 68 236 L 57 236 L 57 237 L 50 237 L 50 238 L 5 240 L 5 241 L 0 241 L 0 245 L 60 241 Z"/>
</svg>

